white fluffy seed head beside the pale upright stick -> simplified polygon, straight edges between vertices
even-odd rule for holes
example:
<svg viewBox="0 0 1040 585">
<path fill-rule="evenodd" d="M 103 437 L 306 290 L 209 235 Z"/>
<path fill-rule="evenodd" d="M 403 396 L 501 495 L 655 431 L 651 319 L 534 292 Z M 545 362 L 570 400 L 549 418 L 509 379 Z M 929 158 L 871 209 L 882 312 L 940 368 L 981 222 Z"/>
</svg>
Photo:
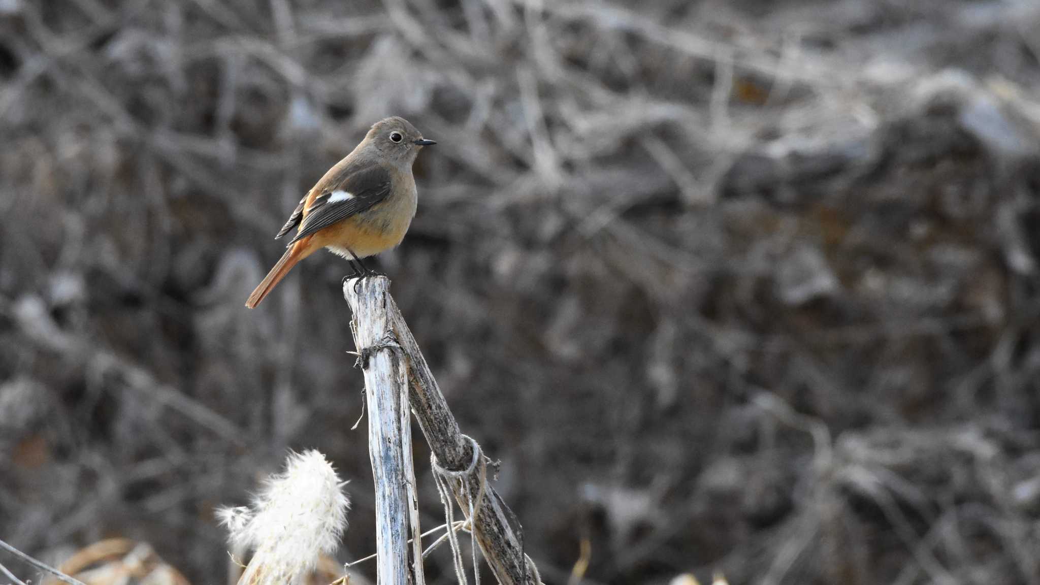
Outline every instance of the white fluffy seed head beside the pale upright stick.
<svg viewBox="0 0 1040 585">
<path fill-rule="evenodd" d="M 294 585 L 332 554 L 346 528 L 349 501 L 339 477 L 317 451 L 290 453 L 250 508 L 217 510 L 236 548 L 255 553 L 239 584 Z"/>
</svg>

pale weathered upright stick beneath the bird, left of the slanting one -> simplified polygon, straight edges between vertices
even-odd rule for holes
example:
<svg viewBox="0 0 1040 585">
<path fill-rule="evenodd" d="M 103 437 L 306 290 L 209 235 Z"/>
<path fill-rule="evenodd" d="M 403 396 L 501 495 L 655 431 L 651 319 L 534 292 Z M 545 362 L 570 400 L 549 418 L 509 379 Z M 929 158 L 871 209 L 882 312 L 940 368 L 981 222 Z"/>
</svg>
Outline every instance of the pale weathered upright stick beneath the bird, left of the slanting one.
<svg viewBox="0 0 1040 585">
<path fill-rule="evenodd" d="M 368 456 L 375 482 L 376 582 L 408 585 L 408 468 L 401 412 L 407 385 L 400 351 L 387 323 L 386 284 L 366 279 L 344 288 L 354 309 L 354 342 L 362 353 L 368 402 Z M 364 319 L 358 319 L 364 315 Z M 411 444 L 409 438 L 408 443 Z"/>
</svg>

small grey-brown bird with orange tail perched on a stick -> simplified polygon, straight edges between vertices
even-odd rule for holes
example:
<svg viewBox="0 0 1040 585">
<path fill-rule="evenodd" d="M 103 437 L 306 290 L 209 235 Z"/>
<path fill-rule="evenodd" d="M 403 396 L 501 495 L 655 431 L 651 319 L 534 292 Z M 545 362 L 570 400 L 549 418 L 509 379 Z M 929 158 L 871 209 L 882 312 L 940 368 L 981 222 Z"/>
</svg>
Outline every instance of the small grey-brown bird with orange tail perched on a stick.
<svg viewBox="0 0 1040 585">
<path fill-rule="evenodd" d="M 436 144 L 397 116 L 372 124 L 350 154 L 300 200 L 275 239 L 293 229 L 295 235 L 245 306 L 259 305 L 296 262 L 322 248 L 346 258 L 355 275 L 373 274 L 361 259 L 404 239 L 418 202 L 412 163 L 423 147 Z"/>
</svg>

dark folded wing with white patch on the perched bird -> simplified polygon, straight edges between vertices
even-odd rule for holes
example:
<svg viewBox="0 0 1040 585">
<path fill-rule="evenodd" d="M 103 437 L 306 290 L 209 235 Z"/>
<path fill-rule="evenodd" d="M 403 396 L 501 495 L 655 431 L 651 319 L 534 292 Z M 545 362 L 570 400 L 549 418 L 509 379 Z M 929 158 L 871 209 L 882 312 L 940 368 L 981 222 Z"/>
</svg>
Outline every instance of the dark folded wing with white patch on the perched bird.
<svg viewBox="0 0 1040 585">
<path fill-rule="evenodd" d="M 348 171 L 314 198 L 300 231 L 289 244 L 356 215 L 390 196 L 390 172 L 378 164 Z"/>
</svg>

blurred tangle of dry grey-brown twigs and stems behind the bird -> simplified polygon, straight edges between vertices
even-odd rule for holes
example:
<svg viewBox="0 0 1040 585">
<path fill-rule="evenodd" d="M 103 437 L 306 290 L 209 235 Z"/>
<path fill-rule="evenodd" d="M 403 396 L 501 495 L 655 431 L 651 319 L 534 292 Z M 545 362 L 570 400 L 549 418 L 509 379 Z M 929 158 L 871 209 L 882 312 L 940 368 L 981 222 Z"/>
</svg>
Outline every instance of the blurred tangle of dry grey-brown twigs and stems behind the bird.
<svg viewBox="0 0 1040 585">
<path fill-rule="evenodd" d="M 394 113 L 375 263 L 547 582 L 1040 583 L 1038 58 L 1033 1 L 0 0 L 0 538 L 219 583 L 317 448 L 373 550 L 347 264 L 242 303 Z"/>
</svg>

